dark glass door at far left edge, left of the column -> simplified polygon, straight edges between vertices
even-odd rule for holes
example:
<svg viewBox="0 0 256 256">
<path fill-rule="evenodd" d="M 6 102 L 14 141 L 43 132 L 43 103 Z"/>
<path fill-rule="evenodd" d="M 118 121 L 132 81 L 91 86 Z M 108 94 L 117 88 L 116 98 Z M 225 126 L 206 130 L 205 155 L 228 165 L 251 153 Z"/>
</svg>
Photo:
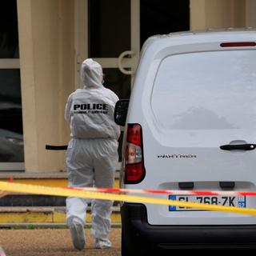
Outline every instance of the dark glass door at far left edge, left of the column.
<svg viewBox="0 0 256 256">
<path fill-rule="evenodd" d="M 0 9 L 0 172 L 24 170 L 17 2 Z"/>
</svg>

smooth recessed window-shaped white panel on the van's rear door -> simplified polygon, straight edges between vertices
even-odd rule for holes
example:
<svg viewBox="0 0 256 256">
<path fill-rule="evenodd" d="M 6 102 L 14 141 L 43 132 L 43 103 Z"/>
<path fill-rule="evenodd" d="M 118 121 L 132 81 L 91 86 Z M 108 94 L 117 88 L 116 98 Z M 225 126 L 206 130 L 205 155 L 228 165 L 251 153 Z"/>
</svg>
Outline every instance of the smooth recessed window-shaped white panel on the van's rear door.
<svg viewBox="0 0 256 256">
<path fill-rule="evenodd" d="M 256 129 L 256 50 L 177 54 L 158 69 L 154 118 L 174 130 Z"/>
</svg>

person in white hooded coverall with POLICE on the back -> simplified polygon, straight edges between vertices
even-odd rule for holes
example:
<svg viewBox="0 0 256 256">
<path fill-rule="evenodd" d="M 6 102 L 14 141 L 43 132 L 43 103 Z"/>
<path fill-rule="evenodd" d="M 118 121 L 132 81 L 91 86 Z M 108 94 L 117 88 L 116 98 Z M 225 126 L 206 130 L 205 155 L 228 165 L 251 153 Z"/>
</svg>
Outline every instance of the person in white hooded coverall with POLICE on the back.
<svg viewBox="0 0 256 256">
<path fill-rule="evenodd" d="M 82 62 L 82 89 L 70 94 L 65 119 L 70 122 L 71 140 L 66 153 L 70 187 L 112 187 L 118 163 L 120 128 L 114 122 L 118 96 L 102 85 L 102 66 L 91 58 Z M 66 223 L 76 249 L 86 244 L 84 225 L 86 198 L 66 199 Z M 110 214 L 113 201 L 91 200 L 94 246 L 108 248 L 111 242 Z"/>
</svg>

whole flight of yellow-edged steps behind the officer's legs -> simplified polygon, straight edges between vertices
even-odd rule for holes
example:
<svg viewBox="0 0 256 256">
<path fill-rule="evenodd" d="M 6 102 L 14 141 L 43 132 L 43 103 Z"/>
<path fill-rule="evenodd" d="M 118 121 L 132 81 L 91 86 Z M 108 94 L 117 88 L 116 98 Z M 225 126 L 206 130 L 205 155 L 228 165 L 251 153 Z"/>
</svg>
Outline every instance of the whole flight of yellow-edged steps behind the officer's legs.
<svg viewBox="0 0 256 256">
<path fill-rule="evenodd" d="M 66 172 L 6 172 L 0 173 L 1 181 L 10 181 L 38 186 L 68 186 Z M 119 174 L 115 174 L 114 187 L 119 187 Z M 66 198 L 36 194 L 10 194 L 0 199 L 0 227 L 66 226 Z M 111 214 L 112 226 L 120 226 L 119 202 L 114 202 Z M 90 226 L 91 214 L 88 207 L 86 226 Z"/>
</svg>

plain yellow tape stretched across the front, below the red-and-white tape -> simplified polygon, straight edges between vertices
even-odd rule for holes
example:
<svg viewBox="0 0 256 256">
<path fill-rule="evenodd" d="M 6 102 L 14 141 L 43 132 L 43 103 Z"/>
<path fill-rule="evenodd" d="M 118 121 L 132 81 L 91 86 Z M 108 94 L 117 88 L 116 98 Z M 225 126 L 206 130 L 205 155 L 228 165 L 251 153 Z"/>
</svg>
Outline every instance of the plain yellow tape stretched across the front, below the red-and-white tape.
<svg viewBox="0 0 256 256">
<path fill-rule="evenodd" d="M 91 198 L 91 199 L 102 199 L 102 200 L 114 200 L 114 201 L 124 201 L 124 202 L 142 202 L 142 203 L 152 203 L 165 206 L 182 206 L 191 207 L 202 210 L 217 210 L 230 212 L 235 214 L 250 214 L 256 215 L 256 209 L 252 208 L 238 208 L 229 206 L 214 206 L 208 204 L 202 204 L 197 202 L 180 202 L 164 198 L 147 198 L 139 197 L 134 195 L 126 194 L 110 194 L 101 192 L 89 192 L 83 190 L 70 190 L 59 187 L 52 186 L 34 186 L 25 185 L 11 182 L 0 182 L 0 190 L 10 191 L 10 192 L 20 192 L 20 193 L 30 193 L 30 194 L 45 194 L 45 195 L 55 195 L 64 197 L 77 197 L 77 198 Z"/>
</svg>

